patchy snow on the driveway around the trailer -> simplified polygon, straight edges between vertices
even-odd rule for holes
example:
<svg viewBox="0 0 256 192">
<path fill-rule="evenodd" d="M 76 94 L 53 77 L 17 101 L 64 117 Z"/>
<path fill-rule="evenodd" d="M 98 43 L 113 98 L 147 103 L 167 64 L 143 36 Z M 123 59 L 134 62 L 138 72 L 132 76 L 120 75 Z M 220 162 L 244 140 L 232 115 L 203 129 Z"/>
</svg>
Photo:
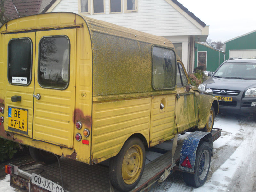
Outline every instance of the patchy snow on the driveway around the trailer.
<svg viewBox="0 0 256 192">
<path fill-rule="evenodd" d="M 222 115 L 215 118 L 222 136 L 214 142 L 214 156 L 206 183 L 194 188 L 175 172 L 152 192 L 253 192 L 256 191 L 256 122 L 245 116 Z M 179 137 L 184 137 L 179 136 Z M 147 155 L 148 158 L 158 155 Z M 9 186 L 10 176 L 0 180 L 0 192 L 18 191 Z"/>
</svg>

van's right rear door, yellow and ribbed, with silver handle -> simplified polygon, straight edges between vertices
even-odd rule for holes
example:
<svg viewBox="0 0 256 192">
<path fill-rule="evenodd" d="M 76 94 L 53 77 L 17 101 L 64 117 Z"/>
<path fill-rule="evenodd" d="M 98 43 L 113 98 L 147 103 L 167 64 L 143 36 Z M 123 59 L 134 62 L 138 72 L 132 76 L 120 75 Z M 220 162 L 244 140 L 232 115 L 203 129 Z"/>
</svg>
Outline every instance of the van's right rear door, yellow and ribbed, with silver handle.
<svg viewBox="0 0 256 192">
<path fill-rule="evenodd" d="M 76 29 L 36 32 L 33 139 L 73 147 Z"/>
</svg>

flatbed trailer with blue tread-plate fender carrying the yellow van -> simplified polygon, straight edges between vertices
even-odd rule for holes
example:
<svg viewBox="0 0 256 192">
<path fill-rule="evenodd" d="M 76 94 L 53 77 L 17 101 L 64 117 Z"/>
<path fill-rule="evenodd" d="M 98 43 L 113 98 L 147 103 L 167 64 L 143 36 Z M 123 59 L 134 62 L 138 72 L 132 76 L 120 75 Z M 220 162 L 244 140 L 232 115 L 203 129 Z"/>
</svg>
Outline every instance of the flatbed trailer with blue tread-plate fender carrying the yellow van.
<svg viewBox="0 0 256 192">
<path fill-rule="evenodd" d="M 182 171 L 184 181 L 190 184 L 189 175 L 194 177 L 196 172 L 200 172 L 202 168 L 202 164 L 196 164 L 196 156 L 200 153 L 200 146 L 202 143 L 208 146 L 211 153 L 209 157 L 211 157 L 213 155 L 213 141 L 220 136 L 221 129 L 218 128 L 213 128 L 212 133 L 195 131 L 187 134 L 184 140 L 180 139 L 176 142 L 174 138 L 166 141 L 172 150 L 149 148 L 148 150 L 163 155 L 145 165 L 138 185 L 131 191 L 150 191 L 158 182 L 164 181 L 168 175 L 175 171 Z M 177 145 L 175 146 L 175 144 Z M 207 161 L 207 156 L 205 157 Z M 199 160 L 201 162 L 202 158 Z M 210 161 L 211 158 L 208 160 Z M 206 164 L 207 162 L 203 163 Z M 91 166 L 69 158 L 60 158 L 57 163 L 50 165 L 31 162 L 17 167 L 9 164 L 5 166 L 5 171 L 10 174 L 10 186 L 23 192 L 118 192 L 109 181 L 106 164 L 107 162 Z M 201 173 L 206 174 L 205 180 L 209 168 L 210 162 L 206 172 Z"/>
</svg>

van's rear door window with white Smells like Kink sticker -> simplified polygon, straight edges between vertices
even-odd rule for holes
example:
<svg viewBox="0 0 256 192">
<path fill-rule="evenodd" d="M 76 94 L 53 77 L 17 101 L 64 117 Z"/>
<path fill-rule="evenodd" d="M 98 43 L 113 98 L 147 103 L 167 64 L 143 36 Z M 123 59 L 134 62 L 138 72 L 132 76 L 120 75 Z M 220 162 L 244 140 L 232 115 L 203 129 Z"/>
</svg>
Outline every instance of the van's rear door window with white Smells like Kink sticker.
<svg viewBox="0 0 256 192">
<path fill-rule="evenodd" d="M 8 81 L 28 85 L 31 81 L 32 41 L 29 38 L 11 39 L 8 44 Z"/>
</svg>

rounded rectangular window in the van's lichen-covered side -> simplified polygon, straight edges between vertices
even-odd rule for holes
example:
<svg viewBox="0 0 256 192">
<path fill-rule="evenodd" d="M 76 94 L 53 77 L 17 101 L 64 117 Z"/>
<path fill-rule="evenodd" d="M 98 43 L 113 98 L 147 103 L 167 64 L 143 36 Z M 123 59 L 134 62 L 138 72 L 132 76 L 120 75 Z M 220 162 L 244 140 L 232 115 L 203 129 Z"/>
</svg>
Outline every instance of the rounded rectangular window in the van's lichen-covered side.
<svg viewBox="0 0 256 192">
<path fill-rule="evenodd" d="M 176 57 L 172 49 L 153 46 L 152 83 L 154 89 L 172 89 L 176 85 Z"/>
</svg>

